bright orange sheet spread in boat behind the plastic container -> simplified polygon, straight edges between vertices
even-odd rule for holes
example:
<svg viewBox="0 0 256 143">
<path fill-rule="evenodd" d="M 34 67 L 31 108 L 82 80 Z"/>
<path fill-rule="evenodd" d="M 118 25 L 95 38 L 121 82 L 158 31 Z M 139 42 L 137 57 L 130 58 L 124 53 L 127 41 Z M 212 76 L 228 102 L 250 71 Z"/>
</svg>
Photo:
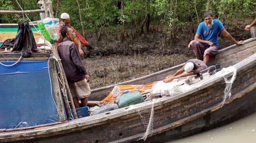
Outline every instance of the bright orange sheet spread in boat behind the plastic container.
<svg viewBox="0 0 256 143">
<path fill-rule="evenodd" d="M 138 91 L 140 93 L 144 93 L 148 89 L 152 89 L 156 82 L 151 82 L 149 84 L 141 84 L 141 85 L 117 85 L 113 88 L 113 90 L 108 94 L 108 96 L 100 101 L 100 103 L 108 103 L 115 100 L 118 96 L 120 96 L 123 91 Z"/>
</svg>

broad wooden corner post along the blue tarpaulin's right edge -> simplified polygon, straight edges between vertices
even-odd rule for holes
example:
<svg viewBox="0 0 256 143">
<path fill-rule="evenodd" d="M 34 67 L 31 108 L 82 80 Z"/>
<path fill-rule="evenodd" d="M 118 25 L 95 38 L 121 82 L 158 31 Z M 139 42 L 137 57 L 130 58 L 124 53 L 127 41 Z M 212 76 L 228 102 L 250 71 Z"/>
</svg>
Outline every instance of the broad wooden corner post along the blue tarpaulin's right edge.
<svg viewBox="0 0 256 143">
<path fill-rule="evenodd" d="M 55 102 L 57 106 L 56 108 L 58 109 L 59 120 L 61 122 L 66 121 L 62 98 L 61 98 L 61 91 L 59 89 L 58 74 L 56 72 L 57 71 L 56 64 L 52 57 L 49 58 L 49 70 L 51 72 L 51 79 L 52 79 L 52 84 L 53 84 L 54 93 L 55 93 Z M 68 118 L 70 118 L 70 111 L 68 108 L 66 108 L 66 112 L 67 112 Z"/>
</svg>

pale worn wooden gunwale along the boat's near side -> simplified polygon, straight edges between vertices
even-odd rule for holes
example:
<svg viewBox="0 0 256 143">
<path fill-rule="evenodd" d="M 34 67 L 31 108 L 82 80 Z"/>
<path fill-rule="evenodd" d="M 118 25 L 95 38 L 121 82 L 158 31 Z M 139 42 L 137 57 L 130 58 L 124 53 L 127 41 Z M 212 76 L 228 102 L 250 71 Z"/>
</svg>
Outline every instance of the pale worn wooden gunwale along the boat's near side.
<svg viewBox="0 0 256 143">
<path fill-rule="evenodd" d="M 252 59 L 252 60 L 248 60 L 248 59 Z M 255 60 L 256 60 L 256 54 L 251 55 L 250 57 L 243 59 L 241 62 L 238 62 L 237 64 L 233 65 L 234 67 L 236 67 L 237 72 L 243 70 L 246 67 L 249 67 L 252 64 L 255 64 Z M 232 72 L 227 72 L 225 73 L 225 77 L 229 77 L 232 75 Z M 223 76 L 217 76 L 215 78 L 213 78 L 215 75 L 212 76 L 212 78 L 210 78 L 209 82 L 207 83 L 203 83 L 200 86 L 196 86 L 182 94 L 179 94 L 177 96 L 174 97 L 162 97 L 160 99 L 157 99 L 156 102 L 154 102 L 154 107 L 159 106 L 159 105 L 163 105 L 169 102 L 172 102 L 174 100 L 177 99 L 181 99 L 185 96 L 189 96 L 190 94 L 193 94 L 197 91 L 200 91 L 202 89 L 205 89 L 215 83 L 218 83 L 220 81 L 224 81 Z M 230 103 L 230 102 L 229 102 Z M 228 104 L 229 104 L 228 103 Z M 108 115 L 106 115 L 105 113 L 100 113 L 94 116 L 89 116 L 89 117 L 84 117 L 84 118 L 79 118 L 73 121 L 69 121 L 68 123 L 62 123 L 56 126 L 49 126 L 46 128 L 39 128 L 39 129 L 32 129 L 32 130 L 22 130 L 22 131 L 11 131 L 11 132 L 3 132 L 0 133 L 0 139 L 5 139 L 5 140 L 11 140 L 11 141 L 15 141 L 18 140 L 19 137 L 21 138 L 27 138 L 30 139 L 33 136 L 40 136 L 40 135 L 44 135 L 47 134 L 49 136 L 51 136 L 51 133 L 57 133 L 58 131 L 67 131 L 69 129 L 74 129 L 78 128 L 78 127 L 84 127 L 85 128 L 90 128 L 92 126 L 98 126 L 100 124 L 103 124 L 104 121 L 110 120 L 110 119 L 114 119 L 114 118 L 118 118 L 120 116 L 125 116 L 131 113 L 136 113 L 138 111 L 141 110 L 145 110 L 145 109 L 149 109 L 152 107 L 152 102 L 151 101 L 146 101 L 143 102 L 141 104 L 136 104 L 133 105 L 133 108 L 119 108 L 114 110 L 116 113 L 110 113 Z M 102 116 L 103 115 L 103 116 Z M 87 120 L 84 120 L 87 119 Z M 69 131 L 70 132 L 70 131 Z M 59 133 L 61 134 L 61 133 Z M 56 134 L 55 134 L 56 135 Z"/>
</svg>

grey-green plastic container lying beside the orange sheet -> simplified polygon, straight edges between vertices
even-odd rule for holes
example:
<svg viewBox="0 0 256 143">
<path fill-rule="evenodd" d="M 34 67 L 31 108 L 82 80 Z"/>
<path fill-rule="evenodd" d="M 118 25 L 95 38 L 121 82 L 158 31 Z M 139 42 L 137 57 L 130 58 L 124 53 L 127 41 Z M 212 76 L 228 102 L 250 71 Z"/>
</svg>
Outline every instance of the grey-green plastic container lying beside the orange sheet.
<svg viewBox="0 0 256 143">
<path fill-rule="evenodd" d="M 123 94 L 117 100 L 119 108 L 144 102 L 142 94 L 136 91 Z"/>
</svg>

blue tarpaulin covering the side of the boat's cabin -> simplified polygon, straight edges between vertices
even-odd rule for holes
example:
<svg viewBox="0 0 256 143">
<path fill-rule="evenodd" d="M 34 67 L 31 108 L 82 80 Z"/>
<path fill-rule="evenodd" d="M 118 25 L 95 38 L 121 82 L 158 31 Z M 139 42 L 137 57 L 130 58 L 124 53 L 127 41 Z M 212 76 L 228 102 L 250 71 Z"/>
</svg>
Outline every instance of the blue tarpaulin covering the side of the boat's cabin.
<svg viewBox="0 0 256 143">
<path fill-rule="evenodd" d="M 21 61 L 13 67 L 0 65 L 0 129 L 60 121 L 48 67 L 48 61 Z"/>
</svg>

